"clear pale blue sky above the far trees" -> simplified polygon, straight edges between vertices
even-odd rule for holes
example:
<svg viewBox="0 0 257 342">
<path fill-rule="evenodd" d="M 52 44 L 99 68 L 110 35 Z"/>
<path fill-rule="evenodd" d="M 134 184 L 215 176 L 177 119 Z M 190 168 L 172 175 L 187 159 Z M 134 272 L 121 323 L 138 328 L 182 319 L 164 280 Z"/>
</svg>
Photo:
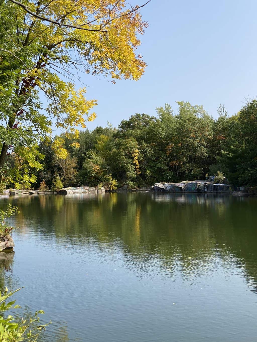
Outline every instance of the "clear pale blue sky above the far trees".
<svg viewBox="0 0 257 342">
<path fill-rule="evenodd" d="M 148 65 L 142 78 L 112 84 L 82 77 L 87 97 L 98 100 L 90 130 L 135 113 L 155 115 L 166 102 L 176 109 L 177 100 L 202 104 L 215 118 L 221 103 L 233 115 L 256 95 L 256 0 L 151 0 L 141 13 L 149 23 L 138 49 Z"/>
</svg>

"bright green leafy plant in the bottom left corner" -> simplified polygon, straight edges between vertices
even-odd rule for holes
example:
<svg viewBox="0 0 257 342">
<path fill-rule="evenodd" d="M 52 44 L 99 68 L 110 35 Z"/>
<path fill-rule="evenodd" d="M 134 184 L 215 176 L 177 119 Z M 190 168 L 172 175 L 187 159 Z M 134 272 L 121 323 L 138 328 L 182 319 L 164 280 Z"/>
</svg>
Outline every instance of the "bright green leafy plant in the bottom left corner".
<svg viewBox="0 0 257 342">
<path fill-rule="evenodd" d="M 15 300 L 8 302 L 7 300 L 18 290 L 0 292 L 0 341 L 1 342 L 20 342 L 30 341 L 35 342 L 38 339 L 39 333 L 46 329 L 46 325 L 39 324 L 39 314 L 44 314 L 44 311 L 36 311 L 34 317 L 30 318 L 29 321 L 24 319 L 21 322 L 15 321 L 11 315 L 3 315 L 5 311 L 10 309 L 20 308 L 19 305 L 14 305 Z M 50 322 L 51 323 L 51 322 Z"/>
</svg>

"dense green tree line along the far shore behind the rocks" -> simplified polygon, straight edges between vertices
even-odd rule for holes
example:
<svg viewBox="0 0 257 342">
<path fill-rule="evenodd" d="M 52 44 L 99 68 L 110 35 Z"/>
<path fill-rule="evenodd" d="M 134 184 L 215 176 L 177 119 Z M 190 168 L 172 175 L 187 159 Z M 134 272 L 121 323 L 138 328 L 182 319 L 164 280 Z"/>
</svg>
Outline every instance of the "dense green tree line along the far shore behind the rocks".
<svg viewBox="0 0 257 342">
<path fill-rule="evenodd" d="M 132 189 L 162 181 L 204 179 L 206 172 L 218 171 L 235 186 L 257 185 L 257 100 L 233 116 L 220 105 L 217 119 L 203 106 L 177 104 L 178 113 L 166 104 L 157 108 L 157 116 L 135 114 L 118 128 L 108 124 L 81 131 L 77 144 L 65 135 L 41 141 L 38 153 L 45 156 L 43 170 L 31 170 L 37 179 L 34 186 L 45 181 L 51 188 L 59 177 L 65 187 Z M 63 141 L 66 158 L 56 155 L 56 140 Z M 15 169 L 16 161 L 10 159 Z"/>
</svg>

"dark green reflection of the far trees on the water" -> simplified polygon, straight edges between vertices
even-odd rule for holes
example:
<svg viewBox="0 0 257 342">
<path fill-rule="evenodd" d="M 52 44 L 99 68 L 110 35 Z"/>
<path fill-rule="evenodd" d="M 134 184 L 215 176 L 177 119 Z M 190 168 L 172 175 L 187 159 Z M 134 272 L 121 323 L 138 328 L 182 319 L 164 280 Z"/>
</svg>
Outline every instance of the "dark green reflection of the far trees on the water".
<svg viewBox="0 0 257 342">
<path fill-rule="evenodd" d="M 215 254 L 225 260 L 231 255 L 256 287 L 256 198 L 112 193 L 10 200 L 21 211 L 12 220 L 20 227 L 17 234 L 27 233 L 29 220 L 29 229 L 39 238 L 54 236 L 58 244 L 73 248 L 88 247 L 92 239 L 107 248 L 106 242 L 113 241 L 137 263 L 157 255 L 164 264 L 179 260 L 185 273 L 193 259 L 198 275 Z"/>
</svg>

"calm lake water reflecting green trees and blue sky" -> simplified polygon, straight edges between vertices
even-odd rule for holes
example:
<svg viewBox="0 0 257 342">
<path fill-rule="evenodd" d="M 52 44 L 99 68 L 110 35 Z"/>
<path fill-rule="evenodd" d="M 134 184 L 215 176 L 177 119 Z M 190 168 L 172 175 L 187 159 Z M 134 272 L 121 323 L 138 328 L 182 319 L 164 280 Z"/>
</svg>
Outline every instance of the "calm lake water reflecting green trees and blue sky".
<svg viewBox="0 0 257 342">
<path fill-rule="evenodd" d="M 0 285 L 40 340 L 256 341 L 257 197 L 125 193 L 2 198 L 15 254 Z"/>
</svg>

